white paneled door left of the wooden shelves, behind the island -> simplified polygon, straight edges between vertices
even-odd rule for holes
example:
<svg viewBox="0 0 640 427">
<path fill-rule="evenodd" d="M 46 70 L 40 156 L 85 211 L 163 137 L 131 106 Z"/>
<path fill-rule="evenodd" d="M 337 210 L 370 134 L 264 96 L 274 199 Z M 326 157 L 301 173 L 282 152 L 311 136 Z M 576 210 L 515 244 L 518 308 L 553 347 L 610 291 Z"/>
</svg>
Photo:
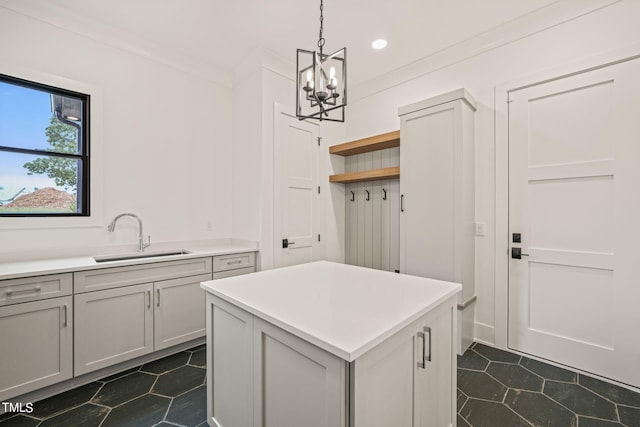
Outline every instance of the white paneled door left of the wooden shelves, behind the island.
<svg viewBox="0 0 640 427">
<path fill-rule="evenodd" d="M 276 104 L 274 123 L 275 267 L 315 260 L 318 205 L 318 125 Z M 287 243 L 284 243 L 286 239 Z"/>
</svg>

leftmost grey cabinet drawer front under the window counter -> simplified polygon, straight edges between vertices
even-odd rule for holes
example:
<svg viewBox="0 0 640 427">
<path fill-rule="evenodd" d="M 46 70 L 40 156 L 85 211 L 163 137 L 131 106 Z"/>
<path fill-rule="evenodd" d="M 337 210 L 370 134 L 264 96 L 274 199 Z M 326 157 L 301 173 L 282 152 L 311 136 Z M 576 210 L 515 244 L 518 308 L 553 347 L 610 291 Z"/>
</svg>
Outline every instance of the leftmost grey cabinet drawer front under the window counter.
<svg viewBox="0 0 640 427">
<path fill-rule="evenodd" d="M 71 273 L 0 280 L 0 306 L 71 295 Z"/>
</svg>

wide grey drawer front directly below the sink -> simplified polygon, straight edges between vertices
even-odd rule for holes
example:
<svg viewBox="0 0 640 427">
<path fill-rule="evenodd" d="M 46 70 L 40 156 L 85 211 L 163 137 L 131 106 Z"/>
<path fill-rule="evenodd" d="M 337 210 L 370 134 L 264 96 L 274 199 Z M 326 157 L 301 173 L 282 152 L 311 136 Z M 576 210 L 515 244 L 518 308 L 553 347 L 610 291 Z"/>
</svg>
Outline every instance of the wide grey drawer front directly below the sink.
<svg viewBox="0 0 640 427">
<path fill-rule="evenodd" d="M 211 273 L 211 257 L 101 268 L 73 273 L 75 293 Z"/>
</svg>

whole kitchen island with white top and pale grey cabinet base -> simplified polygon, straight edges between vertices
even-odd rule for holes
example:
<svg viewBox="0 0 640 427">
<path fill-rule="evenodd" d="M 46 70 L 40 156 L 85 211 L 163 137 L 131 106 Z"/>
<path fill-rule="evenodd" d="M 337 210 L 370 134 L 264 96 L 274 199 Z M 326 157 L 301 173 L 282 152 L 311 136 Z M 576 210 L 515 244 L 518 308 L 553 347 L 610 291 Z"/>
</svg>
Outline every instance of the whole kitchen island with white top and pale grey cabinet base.
<svg viewBox="0 0 640 427">
<path fill-rule="evenodd" d="M 456 283 L 319 261 L 202 283 L 211 426 L 452 426 Z"/>
</svg>

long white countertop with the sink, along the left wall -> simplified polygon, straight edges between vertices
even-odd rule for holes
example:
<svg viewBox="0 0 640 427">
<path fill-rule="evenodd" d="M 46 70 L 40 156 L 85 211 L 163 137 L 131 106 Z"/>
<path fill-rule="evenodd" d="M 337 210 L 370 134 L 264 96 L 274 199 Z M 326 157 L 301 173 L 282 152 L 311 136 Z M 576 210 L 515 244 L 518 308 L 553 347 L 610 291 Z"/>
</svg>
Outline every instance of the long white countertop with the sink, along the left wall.
<svg viewBox="0 0 640 427">
<path fill-rule="evenodd" d="M 176 261 L 181 259 L 200 258 L 203 256 L 226 255 L 240 252 L 257 251 L 256 243 L 221 239 L 217 241 L 191 241 L 175 243 L 154 243 L 144 251 L 145 254 L 160 253 L 174 250 L 186 250 L 183 255 L 148 257 L 118 261 L 97 262 L 94 256 L 127 256 L 137 255 L 135 250 L 121 247 L 96 249 L 91 255 L 43 257 L 29 261 L 0 263 L 0 280 L 14 279 L 27 276 L 42 276 L 46 274 L 66 273 L 72 271 L 95 270 L 98 268 L 121 267 L 125 265 L 148 264 L 153 262 Z"/>
</svg>

